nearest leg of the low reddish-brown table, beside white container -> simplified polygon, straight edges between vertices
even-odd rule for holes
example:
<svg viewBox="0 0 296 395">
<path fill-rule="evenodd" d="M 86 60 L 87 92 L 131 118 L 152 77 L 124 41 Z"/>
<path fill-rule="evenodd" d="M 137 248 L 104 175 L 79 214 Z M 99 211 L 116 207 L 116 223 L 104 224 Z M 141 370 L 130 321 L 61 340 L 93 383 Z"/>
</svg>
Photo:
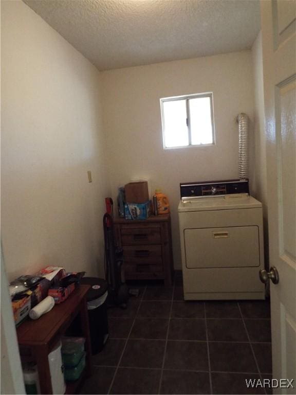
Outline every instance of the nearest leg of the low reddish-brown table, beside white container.
<svg viewBox="0 0 296 395">
<path fill-rule="evenodd" d="M 36 346 L 32 347 L 32 350 L 36 358 L 41 393 L 52 393 L 51 376 L 48 362 L 48 347 L 47 345 L 38 347 Z"/>
</svg>

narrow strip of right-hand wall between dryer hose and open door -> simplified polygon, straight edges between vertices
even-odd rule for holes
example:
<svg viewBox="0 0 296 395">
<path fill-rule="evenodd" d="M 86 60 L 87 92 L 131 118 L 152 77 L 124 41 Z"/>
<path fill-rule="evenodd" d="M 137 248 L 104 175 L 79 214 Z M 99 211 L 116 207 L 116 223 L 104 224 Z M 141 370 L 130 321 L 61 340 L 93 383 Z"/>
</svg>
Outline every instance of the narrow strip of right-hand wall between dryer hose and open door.
<svg viewBox="0 0 296 395">
<path fill-rule="evenodd" d="M 254 151 L 253 160 L 251 161 L 250 166 L 250 180 L 253 195 L 263 204 L 265 263 L 268 264 L 266 140 L 261 31 L 258 33 L 252 46 L 252 69 L 254 92 Z"/>
</svg>

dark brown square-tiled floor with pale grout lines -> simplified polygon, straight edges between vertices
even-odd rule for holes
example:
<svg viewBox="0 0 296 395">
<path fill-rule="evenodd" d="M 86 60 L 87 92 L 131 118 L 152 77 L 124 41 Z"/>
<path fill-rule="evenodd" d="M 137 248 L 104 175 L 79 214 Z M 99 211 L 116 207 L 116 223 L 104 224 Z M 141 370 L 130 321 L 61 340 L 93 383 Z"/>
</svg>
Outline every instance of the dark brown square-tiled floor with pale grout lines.
<svg viewBox="0 0 296 395">
<path fill-rule="evenodd" d="M 271 378 L 268 301 L 185 302 L 180 273 L 170 288 L 138 288 L 126 310 L 108 310 L 109 340 L 81 394 L 268 393 L 246 387 Z"/>
</svg>

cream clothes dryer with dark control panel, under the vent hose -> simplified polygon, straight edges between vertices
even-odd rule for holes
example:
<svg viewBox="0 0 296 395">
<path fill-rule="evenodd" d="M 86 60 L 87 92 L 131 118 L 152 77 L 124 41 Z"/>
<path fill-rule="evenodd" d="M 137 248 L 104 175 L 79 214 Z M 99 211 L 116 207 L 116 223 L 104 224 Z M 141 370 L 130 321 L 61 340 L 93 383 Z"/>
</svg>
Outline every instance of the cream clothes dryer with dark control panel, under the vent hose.
<svg viewBox="0 0 296 395">
<path fill-rule="evenodd" d="M 185 300 L 264 299 L 262 204 L 247 180 L 180 184 Z"/>
</svg>

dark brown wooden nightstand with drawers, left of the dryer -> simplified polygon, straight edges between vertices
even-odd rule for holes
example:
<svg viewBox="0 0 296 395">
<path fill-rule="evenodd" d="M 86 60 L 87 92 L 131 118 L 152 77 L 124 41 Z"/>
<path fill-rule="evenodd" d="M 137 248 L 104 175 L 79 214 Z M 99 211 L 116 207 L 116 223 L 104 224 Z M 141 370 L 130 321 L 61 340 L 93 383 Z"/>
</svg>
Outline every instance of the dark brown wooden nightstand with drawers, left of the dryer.
<svg viewBox="0 0 296 395">
<path fill-rule="evenodd" d="M 117 244 L 123 249 L 126 280 L 164 280 L 172 285 L 173 255 L 169 214 L 146 220 L 114 219 Z"/>
</svg>

